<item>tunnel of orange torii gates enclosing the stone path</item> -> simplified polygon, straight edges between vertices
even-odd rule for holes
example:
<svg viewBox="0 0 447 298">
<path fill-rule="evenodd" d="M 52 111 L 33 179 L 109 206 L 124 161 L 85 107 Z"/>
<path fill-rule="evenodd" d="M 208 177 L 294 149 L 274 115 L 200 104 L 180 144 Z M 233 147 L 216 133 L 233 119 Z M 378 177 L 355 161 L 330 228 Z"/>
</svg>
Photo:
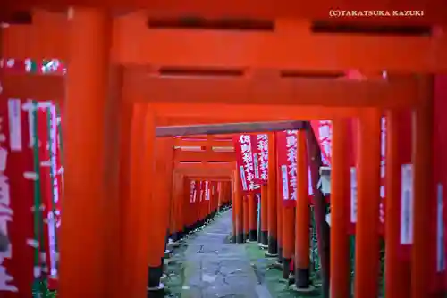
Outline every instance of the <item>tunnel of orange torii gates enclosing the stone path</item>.
<svg viewBox="0 0 447 298">
<path fill-rule="evenodd" d="M 11 15 L 0 14 L 7 22 L 0 38 L 4 59 L 0 78 L 2 192 L 9 189 L 11 193 L 1 198 L 2 227 L 8 228 L 13 239 L 13 227 L 20 230 L 16 222 L 30 217 L 8 206 L 24 200 L 30 184 L 25 187 L 26 181 L 35 183 L 39 178 L 25 169 L 25 159 L 18 155 L 21 141 L 25 144 L 26 137 L 32 136 L 25 126 L 32 128 L 30 123 L 35 121 L 25 116 L 32 113 L 25 113 L 21 117 L 28 124 L 21 125 L 18 115 L 39 104 L 57 104 L 63 119 L 58 294 L 63 298 L 142 297 L 150 272 L 159 269 L 166 229 L 172 235 L 181 233 L 181 225 L 197 224 L 218 207 L 214 197 L 204 210 L 196 209 L 196 217 L 191 215 L 190 181 L 198 187 L 201 181 L 217 183 L 221 199 L 217 204 L 230 198 L 233 203 L 235 241 L 247 233 L 243 216 L 250 213 L 244 211 L 253 205 L 256 194 L 242 189 L 242 179 L 247 177 L 240 177 L 237 167 L 243 154 L 238 151 L 247 150 L 244 133 L 264 133 L 268 136 L 268 180 L 260 186 L 261 238 L 267 235 L 263 243 L 267 253 L 274 255 L 279 242 L 283 261 L 294 255 L 295 273 L 306 276 L 308 247 L 303 245 L 306 233 L 300 228 L 307 224 L 309 203 L 316 205 L 315 195 L 309 200 L 309 164 L 312 184 L 321 172 L 323 191 L 330 193 L 325 195 L 331 207 L 330 266 L 325 270 L 331 297 L 350 295 L 348 246 L 353 228 L 355 297 L 377 297 L 377 280 L 372 277 L 378 276 L 381 237 L 386 249 L 387 297 L 442 294 L 446 284 L 442 189 L 447 182 L 442 154 L 447 149 L 442 135 L 447 128 L 443 117 L 447 79 L 441 75 L 447 70 L 443 29 L 430 35 L 427 28 L 434 24 L 429 21 L 415 27 L 391 26 L 380 19 L 382 29 L 377 29 L 375 19 L 357 27 L 273 19 L 262 5 L 254 9 L 258 15 L 249 13 L 249 21 L 222 21 L 216 18 L 240 14 L 231 10 L 219 14 L 203 5 L 209 13 L 202 15 L 209 18 L 189 21 L 166 19 L 166 15 L 190 15 L 180 8 L 163 13 L 173 8 L 169 4 L 155 5 L 148 12 L 114 15 L 99 8 L 75 7 L 68 14 L 34 10 L 32 18 L 19 20 L 21 24 L 14 24 Z M 67 62 L 67 74 L 21 69 L 38 65 L 39 70 L 49 58 Z M 29 104 L 27 99 L 39 103 Z M 300 120 L 314 124 L 299 124 Z M 229 131 L 232 123 L 250 122 L 251 127 L 245 124 L 244 130 L 233 127 Z M 266 122 L 276 122 L 276 129 Z M 386 137 L 381 137 L 383 128 Z M 316 164 L 321 156 L 306 158 L 311 151 L 309 131 L 315 132 L 325 153 L 321 169 Z M 214 133 L 232 133 L 235 152 L 213 152 Z M 283 142 L 291 137 L 284 134 L 295 136 L 296 141 L 292 149 L 296 150 L 297 183 L 289 195 L 276 184 L 283 179 L 282 168 L 272 166 L 280 162 L 279 154 L 275 155 L 281 151 L 279 136 Z M 192 142 L 175 138 L 184 135 L 205 135 L 207 140 L 196 141 L 207 149 L 174 150 Z M 246 146 L 240 146 L 241 140 Z M 381 143 L 386 144 L 384 148 Z M 30 145 L 36 144 L 36 137 L 30 137 Z M 7 179 L 10 186 L 5 184 Z M 39 206 L 31 209 L 36 210 Z M 293 211 L 296 228 L 285 224 L 291 222 L 286 219 L 291 219 Z M 17 251 L 24 243 L 17 244 Z M 20 259 L 14 264 L 29 259 L 32 264 L 32 253 L 21 259 L 14 245 L 13 241 L 12 250 L 0 259 L 2 278 L 4 266 L 14 263 L 14 258 Z M 29 245 L 36 247 L 38 241 Z M 28 281 L 19 285 L 17 267 L 7 273 L 15 278 L 15 286 L 30 287 Z M 38 269 L 34 274 L 40 276 Z M 0 285 L 5 288 L 2 297 L 22 297 L 9 282 Z"/>
</svg>

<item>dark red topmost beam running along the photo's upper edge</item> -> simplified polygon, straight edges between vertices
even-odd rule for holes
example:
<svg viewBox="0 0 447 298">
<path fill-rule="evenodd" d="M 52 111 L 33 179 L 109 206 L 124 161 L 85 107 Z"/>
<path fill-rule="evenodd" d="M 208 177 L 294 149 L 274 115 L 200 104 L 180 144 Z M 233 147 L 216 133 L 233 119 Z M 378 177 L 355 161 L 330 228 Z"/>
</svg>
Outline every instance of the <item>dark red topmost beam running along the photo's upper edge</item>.
<svg viewBox="0 0 447 298">
<path fill-rule="evenodd" d="M 7 2 L 3 4 L 4 11 L 10 11 L 20 5 L 24 7 L 36 6 L 35 0 L 21 0 L 20 2 Z M 188 4 L 180 0 L 39 0 L 39 5 L 51 7 L 52 10 L 66 12 L 72 5 L 90 6 L 90 7 L 109 7 L 112 11 L 122 11 L 122 7 L 139 8 L 148 11 L 152 16 L 202 16 L 202 17 L 245 17 L 271 19 L 275 17 L 291 17 L 303 19 L 330 19 L 329 10 L 334 7 L 340 7 L 344 10 L 365 11 L 372 7 L 383 11 L 392 12 L 393 10 L 413 9 L 423 10 L 424 17 L 397 17 L 393 18 L 357 18 L 359 21 L 374 23 L 390 22 L 428 22 L 440 23 L 447 19 L 444 10 L 445 2 L 443 0 L 408 0 L 404 4 L 401 2 L 390 2 L 387 0 L 369 0 L 358 2 L 356 0 L 334 0 L 330 4 L 323 2 L 309 3 L 306 1 L 287 0 L 229 0 L 224 2 L 212 3 L 207 0 L 190 0 Z M 116 13 L 115 13 L 116 14 Z M 363 19 L 363 20 L 362 20 Z M 365 20 L 366 19 L 366 20 Z M 369 20 L 368 20 L 369 19 Z M 397 19 L 394 21 L 393 19 Z M 418 20 L 419 19 L 419 20 Z M 422 19 L 422 20 L 420 20 Z"/>
</svg>

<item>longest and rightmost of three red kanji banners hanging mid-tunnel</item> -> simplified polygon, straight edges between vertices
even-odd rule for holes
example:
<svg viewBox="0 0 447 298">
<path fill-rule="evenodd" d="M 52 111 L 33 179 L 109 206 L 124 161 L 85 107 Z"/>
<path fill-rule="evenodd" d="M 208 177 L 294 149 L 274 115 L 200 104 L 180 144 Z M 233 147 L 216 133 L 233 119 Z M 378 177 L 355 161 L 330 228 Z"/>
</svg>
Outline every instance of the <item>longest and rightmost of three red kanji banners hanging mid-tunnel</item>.
<svg viewBox="0 0 447 298">
<path fill-rule="evenodd" d="M 297 137 L 298 130 L 276 132 L 280 194 L 285 207 L 294 207 L 297 201 Z"/>
</svg>

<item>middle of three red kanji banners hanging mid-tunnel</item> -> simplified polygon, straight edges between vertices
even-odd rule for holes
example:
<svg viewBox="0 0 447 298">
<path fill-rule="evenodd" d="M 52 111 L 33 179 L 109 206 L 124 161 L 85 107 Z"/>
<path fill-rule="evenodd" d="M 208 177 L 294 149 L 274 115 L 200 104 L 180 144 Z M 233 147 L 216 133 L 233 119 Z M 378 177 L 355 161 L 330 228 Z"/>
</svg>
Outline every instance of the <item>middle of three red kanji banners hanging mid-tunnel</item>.
<svg viewBox="0 0 447 298">
<path fill-rule="evenodd" d="M 257 184 L 267 184 L 268 181 L 268 135 L 257 134 L 251 137 L 255 178 Z"/>
</svg>

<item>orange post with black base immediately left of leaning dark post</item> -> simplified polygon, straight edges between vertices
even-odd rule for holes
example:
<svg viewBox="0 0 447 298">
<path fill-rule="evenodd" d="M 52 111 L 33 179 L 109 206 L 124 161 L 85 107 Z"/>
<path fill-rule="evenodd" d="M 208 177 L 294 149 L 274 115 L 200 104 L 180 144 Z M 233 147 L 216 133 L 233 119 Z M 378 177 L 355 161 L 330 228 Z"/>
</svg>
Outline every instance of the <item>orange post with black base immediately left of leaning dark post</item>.
<svg viewBox="0 0 447 298">
<path fill-rule="evenodd" d="M 308 289 L 310 286 L 309 203 L 306 132 L 303 129 L 299 129 L 297 136 L 297 203 L 295 216 L 295 286 L 297 290 Z"/>
</svg>

